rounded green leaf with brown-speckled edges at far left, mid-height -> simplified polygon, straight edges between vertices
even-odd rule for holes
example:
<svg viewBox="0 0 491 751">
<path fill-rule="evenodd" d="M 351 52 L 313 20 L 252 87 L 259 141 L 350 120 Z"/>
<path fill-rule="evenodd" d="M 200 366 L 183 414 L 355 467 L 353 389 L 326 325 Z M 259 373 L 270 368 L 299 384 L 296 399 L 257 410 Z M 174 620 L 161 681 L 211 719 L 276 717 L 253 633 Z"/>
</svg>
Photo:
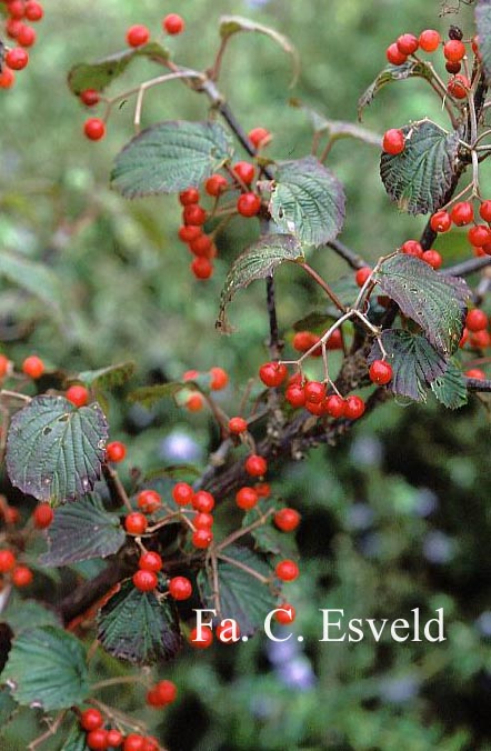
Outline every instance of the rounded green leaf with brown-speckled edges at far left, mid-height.
<svg viewBox="0 0 491 751">
<path fill-rule="evenodd" d="M 10 481 L 53 505 L 77 500 L 101 475 L 107 438 L 108 423 L 97 402 L 77 409 L 63 397 L 34 397 L 10 423 Z"/>
</svg>

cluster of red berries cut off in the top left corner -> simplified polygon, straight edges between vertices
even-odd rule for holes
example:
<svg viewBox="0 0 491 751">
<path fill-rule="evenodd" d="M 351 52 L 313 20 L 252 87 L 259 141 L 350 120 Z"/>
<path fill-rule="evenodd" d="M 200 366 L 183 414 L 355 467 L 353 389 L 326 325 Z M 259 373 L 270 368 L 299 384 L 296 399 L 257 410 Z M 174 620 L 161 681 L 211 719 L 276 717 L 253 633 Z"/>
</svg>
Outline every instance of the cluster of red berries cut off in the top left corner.
<svg viewBox="0 0 491 751">
<path fill-rule="evenodd" d="M 17 42 L 17 47 L 6 49 L 0 66 L 0 89 L 10 89 L 14 81 L 14 70 L 22 70 L 29 62 L 26 48 L 36 42 L 36 30 L 26 21 L 40 21 L 44 14 L 37 0 L 2 0 L 6 11 L 6 33 Z"/>
</svg>

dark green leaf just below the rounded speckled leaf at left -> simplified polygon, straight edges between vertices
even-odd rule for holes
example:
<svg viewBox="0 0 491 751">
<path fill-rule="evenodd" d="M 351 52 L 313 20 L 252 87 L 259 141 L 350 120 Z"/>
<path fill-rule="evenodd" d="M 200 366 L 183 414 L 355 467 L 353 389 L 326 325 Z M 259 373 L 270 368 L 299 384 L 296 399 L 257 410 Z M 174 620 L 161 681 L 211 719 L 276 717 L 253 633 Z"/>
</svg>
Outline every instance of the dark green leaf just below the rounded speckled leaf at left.
<svg viewBox="0 0 491 751">
<path fill-rule="evenodd" d="M 107 558 L 117 553 L 126 540 L 118 517 L 106 511 L 97 493 L 57 509 L 47 535 L 48 552 L 41 555 L 43 565 Z"/>
</svg>

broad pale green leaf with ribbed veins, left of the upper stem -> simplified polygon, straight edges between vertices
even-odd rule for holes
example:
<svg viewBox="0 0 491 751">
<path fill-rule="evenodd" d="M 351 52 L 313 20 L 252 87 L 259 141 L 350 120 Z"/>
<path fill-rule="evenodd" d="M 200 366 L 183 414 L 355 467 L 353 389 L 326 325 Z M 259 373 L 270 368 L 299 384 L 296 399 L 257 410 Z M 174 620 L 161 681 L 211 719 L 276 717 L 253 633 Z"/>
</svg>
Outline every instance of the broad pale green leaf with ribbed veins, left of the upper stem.
<svg viewBox="0 0 491 751">
<path fill-rule="evenodd" d="M 231 156 L 230 137 L 218 122 L 160 122 L 118 154 L 112 187 L 124 198 L 178 192 L 199 186 Z"/>
</svg>

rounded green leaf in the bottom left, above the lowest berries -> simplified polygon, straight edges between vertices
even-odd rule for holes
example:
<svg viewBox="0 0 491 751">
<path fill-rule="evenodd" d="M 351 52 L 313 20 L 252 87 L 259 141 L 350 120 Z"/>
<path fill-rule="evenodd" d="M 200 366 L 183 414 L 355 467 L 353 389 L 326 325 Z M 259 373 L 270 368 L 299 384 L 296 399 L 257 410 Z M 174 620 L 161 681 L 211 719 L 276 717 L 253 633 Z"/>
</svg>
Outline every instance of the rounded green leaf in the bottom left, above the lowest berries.
<svg viewBox="0 0 491 751">
<path fill-rule="evenodd" d="M 49 712 L 80 704 L 89 694 L 86 650 L 63 629 L 22 631 L 12 642 L 2 681 L 16 701 Z"/>
</svg>

